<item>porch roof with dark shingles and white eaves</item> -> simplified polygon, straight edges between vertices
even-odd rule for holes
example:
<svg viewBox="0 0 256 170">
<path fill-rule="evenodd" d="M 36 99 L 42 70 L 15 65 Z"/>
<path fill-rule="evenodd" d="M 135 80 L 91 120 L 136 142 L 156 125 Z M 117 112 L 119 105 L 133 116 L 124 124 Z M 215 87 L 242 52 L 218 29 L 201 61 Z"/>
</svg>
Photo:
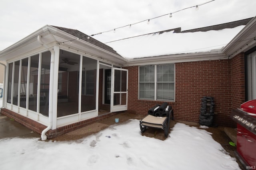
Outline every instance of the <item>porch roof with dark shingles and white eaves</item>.
<svg viewBox="0 0 256 170">
<path fill-rule="evenodd" d="M 87 39 L 88 35 L 78 30 L 51 25 L 45 25 L 1 51 L 0 61 L 14 61 L 45 50 L 45 47 L 38 41 L 38 36 L 49 48 L 59 45 L 61 48 L 68 48 L 75 52 L 79 51 L 79 53 L 86 54 L 89 57 L 100 61 L 108 61 L 118 66 L 126 61 L 108 45 L 91 37 Z"/>
</svg>

